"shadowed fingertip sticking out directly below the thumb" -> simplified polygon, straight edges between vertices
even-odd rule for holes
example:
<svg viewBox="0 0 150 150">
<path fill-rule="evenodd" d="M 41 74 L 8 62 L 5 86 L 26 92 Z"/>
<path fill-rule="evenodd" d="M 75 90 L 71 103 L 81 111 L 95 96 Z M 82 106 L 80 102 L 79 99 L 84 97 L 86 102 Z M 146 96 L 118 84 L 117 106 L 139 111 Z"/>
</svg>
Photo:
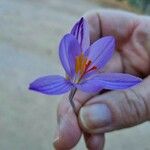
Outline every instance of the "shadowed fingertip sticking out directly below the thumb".
<svg viewBox="0 0 150 150">
<path fill-rule="evenodd" d="M 103 150 L 105 137 L 104 134 L 84 134 L 86 147 L 89 150 Z"/>
</svg>

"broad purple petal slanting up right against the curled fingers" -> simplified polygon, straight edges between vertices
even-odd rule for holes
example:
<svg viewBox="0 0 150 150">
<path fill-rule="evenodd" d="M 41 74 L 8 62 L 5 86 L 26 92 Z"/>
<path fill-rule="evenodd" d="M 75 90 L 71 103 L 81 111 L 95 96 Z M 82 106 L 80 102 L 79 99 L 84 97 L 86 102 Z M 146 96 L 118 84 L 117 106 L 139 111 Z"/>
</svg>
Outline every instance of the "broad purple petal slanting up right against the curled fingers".
<svg viewBox="0 0 150 150">
<path fill-rule="evenodd" d="M 106 36 L 93 43 L 86 54 L 98 69 L 104 67 L 112 57 L 115 49 L 115 39 L 113 36 Z"/>
</svg>

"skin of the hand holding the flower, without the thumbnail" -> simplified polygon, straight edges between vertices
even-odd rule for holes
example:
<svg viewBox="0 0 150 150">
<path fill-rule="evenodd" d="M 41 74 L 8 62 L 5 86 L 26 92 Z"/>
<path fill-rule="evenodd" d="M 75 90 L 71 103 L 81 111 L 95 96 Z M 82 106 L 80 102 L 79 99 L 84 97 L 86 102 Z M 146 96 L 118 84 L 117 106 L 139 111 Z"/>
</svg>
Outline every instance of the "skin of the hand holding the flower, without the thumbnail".
<svg viewBox="0 0 150 150">
<path fill-rule="evenodd" d="M 85 15 L 93 43 L 101 36 L 116 38 L 116 51 L 104 71 L 123 72 L 143 78 L 142 83 L 126 90 L 88 94 L 77 91 L 74 97 L 78 116 L 63 97 L 58 107 L 58 128 L 54 139 L 57 150 L 72 149 L 84 134 L 89 150 L 104 148 L 106 132 L 128 128 L 150 120 L 150 17 L 119 10 L 98 10 Z M 92 112 L 83 109 L 105 104 L 111 112 L 109 126 L 95 124 Z M 84 116 L 84 117 L 83 117 Z M 86 117 L 86 120 L 83 118 Z M 101 120 L 99 120 L 101 122 Z"/>
</svg>

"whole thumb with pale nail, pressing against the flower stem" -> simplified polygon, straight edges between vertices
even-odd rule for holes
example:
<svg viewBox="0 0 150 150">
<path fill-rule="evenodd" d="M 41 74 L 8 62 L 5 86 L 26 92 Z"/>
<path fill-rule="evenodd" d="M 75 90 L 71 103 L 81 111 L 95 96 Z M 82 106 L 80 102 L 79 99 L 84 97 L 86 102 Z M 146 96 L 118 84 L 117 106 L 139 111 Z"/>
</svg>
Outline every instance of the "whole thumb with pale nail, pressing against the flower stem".
<svg viewBox="0 0 150 150">
<path fill-rule="evenodd" d="M 103 133 L 150 120 L 150 76 L 122 91 L 95 96 L 81 109 L 79 122 L 89 133 Z"/>
</svg>

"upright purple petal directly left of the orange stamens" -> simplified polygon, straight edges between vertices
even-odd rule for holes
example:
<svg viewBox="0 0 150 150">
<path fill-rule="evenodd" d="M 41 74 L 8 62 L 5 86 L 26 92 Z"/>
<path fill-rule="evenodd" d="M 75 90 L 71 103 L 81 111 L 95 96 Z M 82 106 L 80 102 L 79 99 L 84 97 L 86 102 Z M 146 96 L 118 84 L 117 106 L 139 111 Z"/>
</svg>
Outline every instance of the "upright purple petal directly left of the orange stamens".
<svg viewBox="0 0 150 150">
<path fill-rule="evenodd" d="M 60 42 L 59 57 L 66 73 L 71 77 L 75 74 L 75 58 L 80 54 L 78 41 L 72 34 L 66 34 Z"/>
</svg>

